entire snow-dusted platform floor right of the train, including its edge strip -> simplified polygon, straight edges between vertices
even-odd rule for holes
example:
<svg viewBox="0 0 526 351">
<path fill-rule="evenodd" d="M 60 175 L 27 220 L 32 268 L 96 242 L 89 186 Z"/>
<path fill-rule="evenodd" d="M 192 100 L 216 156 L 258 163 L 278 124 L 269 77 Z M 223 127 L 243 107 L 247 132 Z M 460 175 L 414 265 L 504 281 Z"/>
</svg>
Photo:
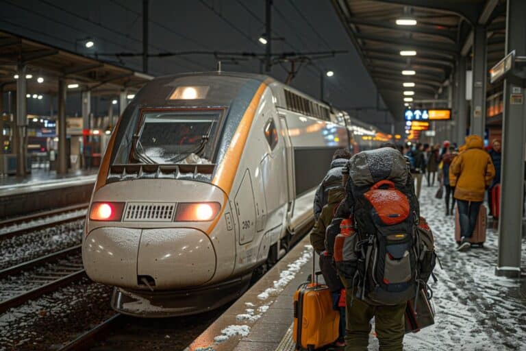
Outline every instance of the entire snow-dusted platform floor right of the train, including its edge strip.
<svg viewBox="0 0 526 351">
<path fill-rule="evenodd" d="M 404 350 L 526 350 L 526 276 L 494 275 L 498 234 L 492 221 L 484 247 L 457 252 L 454 218 L 444 216 L 444 200 L 435 199 L 436 190 L 423 186 L 420 199 L 443 267 L 435 269 L 438 282 L 429 282 L 435 324 L 405 335 Z M 312 248 L 305 237 L 186 351 L 294 350 L 292 296 L 311 270 Z M 369 350 L 378 347 L 371 334 Z"/>
</svg>

